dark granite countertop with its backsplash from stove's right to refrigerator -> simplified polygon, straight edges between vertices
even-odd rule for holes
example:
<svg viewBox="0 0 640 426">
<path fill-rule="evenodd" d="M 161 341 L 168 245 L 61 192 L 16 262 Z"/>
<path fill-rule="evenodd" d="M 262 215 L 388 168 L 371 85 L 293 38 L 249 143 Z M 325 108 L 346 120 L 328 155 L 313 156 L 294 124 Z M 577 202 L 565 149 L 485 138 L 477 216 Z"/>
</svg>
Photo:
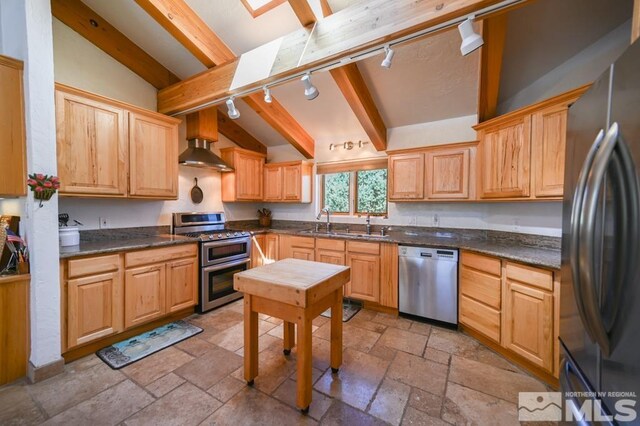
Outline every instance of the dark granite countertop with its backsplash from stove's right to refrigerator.
<svg viewBox="0 0 640 426">
<path fill-rule="evenodd" d="M 332 224 L 334 231 L 362 232 L 362 225 Z M 230 228 L 250 231 L 254 234 L 273 232 L 277 234 L 299 235 L 307 237 L 338 238 L 389 242 L 404 245 L 456 248 L 477 253 L 497 256 L 532 266 L 560 269 L 560 238 L 541 235 L 519 234 L 513 232 L 486 231 L 478 229 L 426 228 L 409 226 L 390 226 L 388 236 L 384 238 L 331 235 L 322 232 L 311 233 L 315 222 L 273 221 L 271 227 L 261 227 L 257 221 L 237 221 L 228 223 Z M 321 226 L 321 229 L 323 227 Z M 374 226 L 372 233 L 379 233 L 380 226 Z"/>
</svg>

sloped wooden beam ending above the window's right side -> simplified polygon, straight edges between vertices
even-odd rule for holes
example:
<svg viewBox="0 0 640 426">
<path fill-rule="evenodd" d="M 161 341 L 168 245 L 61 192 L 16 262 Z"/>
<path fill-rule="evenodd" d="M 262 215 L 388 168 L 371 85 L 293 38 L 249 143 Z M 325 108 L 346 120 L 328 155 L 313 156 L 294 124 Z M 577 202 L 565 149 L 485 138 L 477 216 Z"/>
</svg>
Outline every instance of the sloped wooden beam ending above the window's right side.
<svg viewBox="0 0 640 426">
<path fill-rule="evenodd" d="M 306 0 L 304 1 L 306 2 Z M 320 0 L 320 4 L 325 17 L 333 14 L 327 0 Z M 371 139 L 371 144 L 376 150 L 385 151 L 387 149 L 387 127 L 364 78 L 362 78 L 358 65 L 351 63 L 334 68 L 330 73 L 360 125 Z"/>
</svg>

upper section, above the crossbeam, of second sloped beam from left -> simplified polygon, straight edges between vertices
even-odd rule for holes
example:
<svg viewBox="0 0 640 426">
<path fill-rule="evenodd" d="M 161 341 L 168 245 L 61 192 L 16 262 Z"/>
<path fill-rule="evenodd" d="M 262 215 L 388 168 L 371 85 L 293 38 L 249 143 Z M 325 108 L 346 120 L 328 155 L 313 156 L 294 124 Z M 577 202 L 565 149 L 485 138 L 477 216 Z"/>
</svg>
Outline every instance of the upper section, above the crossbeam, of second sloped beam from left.
<svg viewBox="0 0 640 426">
<path fill-rule="evenodd" d="M 231 49 L 184 0 L 135 0 L 207 68 L 235 59 Z"/>
</svg>

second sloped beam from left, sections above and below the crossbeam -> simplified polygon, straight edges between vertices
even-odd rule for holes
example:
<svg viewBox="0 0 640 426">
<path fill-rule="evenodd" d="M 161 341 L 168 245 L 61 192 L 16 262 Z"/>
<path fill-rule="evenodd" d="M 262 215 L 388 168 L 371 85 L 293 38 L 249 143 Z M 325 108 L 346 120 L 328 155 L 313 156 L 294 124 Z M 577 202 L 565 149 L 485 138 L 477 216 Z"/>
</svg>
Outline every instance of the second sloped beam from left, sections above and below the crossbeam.
<svg viewBox="0 0 640 426">
<path fill-rule="evenodd" d="M 165 30 L 173 35 L 205 66 L 235 61 L 236 55 L 184 0 L 136 0 Z M 306 158 L 313 158 L 311 135 L 274 98 L 272 105 L 261 96 L 250 96 L 247 104 Z M 245 99 L 247 100 L 247 99 Z"/>
</svg>

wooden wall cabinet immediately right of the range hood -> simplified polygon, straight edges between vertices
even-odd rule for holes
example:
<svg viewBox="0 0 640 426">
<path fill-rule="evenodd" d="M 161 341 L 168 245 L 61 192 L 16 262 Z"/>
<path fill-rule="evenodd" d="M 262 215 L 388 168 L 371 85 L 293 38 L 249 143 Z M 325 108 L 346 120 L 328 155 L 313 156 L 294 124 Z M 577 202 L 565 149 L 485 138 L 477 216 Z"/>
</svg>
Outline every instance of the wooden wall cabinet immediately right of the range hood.
<svg viewBox="0 0 640 426">
<path fill-rule="evenodd" d="M 233 172 L 222 173 L 222 201 L 262 201 L 266 155 L 242 148 L 220 150 Z"/>
</svg>

